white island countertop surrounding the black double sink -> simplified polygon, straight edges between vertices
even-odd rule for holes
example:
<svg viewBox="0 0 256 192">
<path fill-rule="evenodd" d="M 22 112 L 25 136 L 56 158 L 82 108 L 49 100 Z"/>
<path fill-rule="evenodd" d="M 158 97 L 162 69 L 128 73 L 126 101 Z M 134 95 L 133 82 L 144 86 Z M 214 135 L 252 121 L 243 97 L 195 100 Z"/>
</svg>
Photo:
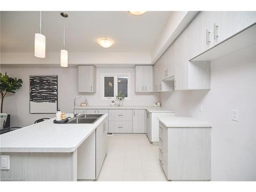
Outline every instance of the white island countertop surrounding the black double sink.
<svg viewBox="0 0 256 192">
<path fill-rule="evenodd" d="M 72 114 L 67 114 L 71 117 Z M 93 124 L 56 124 L 55 118 L 0 135 L 1 152 L 74 152 L 108 116 Z"/>
</svg>

